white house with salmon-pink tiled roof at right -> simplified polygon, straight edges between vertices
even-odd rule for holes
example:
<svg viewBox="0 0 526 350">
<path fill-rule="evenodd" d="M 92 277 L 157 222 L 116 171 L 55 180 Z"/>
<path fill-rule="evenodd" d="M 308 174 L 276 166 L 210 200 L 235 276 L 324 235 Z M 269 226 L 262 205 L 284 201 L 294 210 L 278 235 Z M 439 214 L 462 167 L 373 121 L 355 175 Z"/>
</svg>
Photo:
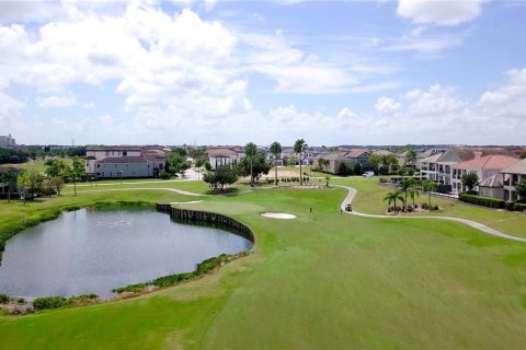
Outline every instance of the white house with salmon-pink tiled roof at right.
<svg viewBox="0 0 526 350">
<path fill-rule="evenodd" d="M 501 171 L 519 162 L 519 159 L 511 155 L 485 155 L 476 151 L 476 158 L 470 161 L 459 162 L 451 165 L 451 191 L 459 194 L 462 188 L 462 175 L 476 173 L 479 177 L 479 186 L 474 190 L 480 196 L 503 199 L 503 174 Z"/>
</svg>

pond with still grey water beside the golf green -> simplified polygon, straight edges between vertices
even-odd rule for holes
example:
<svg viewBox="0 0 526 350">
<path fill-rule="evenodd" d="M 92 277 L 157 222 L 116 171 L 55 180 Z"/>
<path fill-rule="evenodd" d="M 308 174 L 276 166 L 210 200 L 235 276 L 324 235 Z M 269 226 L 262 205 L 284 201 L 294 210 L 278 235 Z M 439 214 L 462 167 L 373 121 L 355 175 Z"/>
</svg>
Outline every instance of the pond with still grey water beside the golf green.
<svg viewBox="0 0 526 350">
<path fill-rule="evenodd" d="M 108 298 L 113 288 L 192 271 L 207 258 L 251 247 L 241 235 L 176 223 L 155 210 L 80 209 L 8 241 L 0 293 Z"/>
</svg>

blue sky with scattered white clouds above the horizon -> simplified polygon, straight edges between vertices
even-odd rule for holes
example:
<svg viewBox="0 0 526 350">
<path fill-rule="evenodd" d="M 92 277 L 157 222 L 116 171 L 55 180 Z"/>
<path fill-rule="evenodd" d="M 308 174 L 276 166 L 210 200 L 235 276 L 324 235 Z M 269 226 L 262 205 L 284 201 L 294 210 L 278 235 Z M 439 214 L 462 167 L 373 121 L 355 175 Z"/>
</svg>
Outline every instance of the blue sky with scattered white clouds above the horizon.
<svg viewBox="0 0 526 350">
<path fill-rule="evenodd" d="M 526 143 L 526 1 L 0 0 L 19 143 Z"/>
</svg>

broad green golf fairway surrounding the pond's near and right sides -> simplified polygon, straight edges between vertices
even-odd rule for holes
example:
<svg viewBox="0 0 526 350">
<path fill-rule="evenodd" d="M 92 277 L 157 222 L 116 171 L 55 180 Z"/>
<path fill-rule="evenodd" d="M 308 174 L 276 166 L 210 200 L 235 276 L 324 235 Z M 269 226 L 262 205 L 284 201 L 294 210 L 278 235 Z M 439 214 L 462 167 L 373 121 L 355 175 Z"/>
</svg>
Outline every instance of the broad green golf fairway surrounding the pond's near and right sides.
<svg viewBox="0 0 526 350">
<path fill-rule="evenodd" d="M 368 188 L 356 209 L 379 210 L 367 200 L 381 187 L 363 179 L 338 182 Z M 341 214 L 345 195 L 341 188 L 276 189 L 186 205 L 248 224 L 256 238 L 252 254 L 210 276 L 138 299 L 0 316 L 1 347 L 524 348 L 526 244 L 455 222 Z M 196 199 L 162 191 L 68 195 L 25 211 L 2 203 L 0 222 L 20 211 L 34 214 L 117 198 Z M 298 218 L 266 219 L 260 215 L 264 211 Z"/>
</svg>

